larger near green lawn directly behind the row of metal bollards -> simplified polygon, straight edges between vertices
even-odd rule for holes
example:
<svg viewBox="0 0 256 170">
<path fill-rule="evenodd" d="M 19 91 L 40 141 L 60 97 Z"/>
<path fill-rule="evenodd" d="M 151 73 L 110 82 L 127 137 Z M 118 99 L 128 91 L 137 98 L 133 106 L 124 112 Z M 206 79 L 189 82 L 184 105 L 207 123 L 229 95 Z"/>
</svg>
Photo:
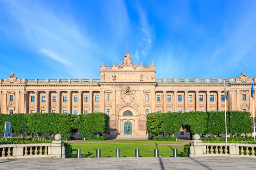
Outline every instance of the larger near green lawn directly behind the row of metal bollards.
<svg viewBox="0 0 256 170">
<path fill-rule="evenodd" d="M 136 141 L 138 142 L 138 141 Z M 154 141 L 155 142 L 155 141 Z M 157 141 L 159 142 L 159 141 Z M 163 141 L 162 141 L 163 142 Z M 131 143 L 131 141 L 130 141 Z M 115 149 L 120 149 L 121 157 L 135 157 L 135 149 L 140 149 L 140 157 L 154 157 L 154 149 L 159 149 L 159 155 L 164 157 L 172 157 L 173 149 L 178 149 L 178 156 L 182 156 L 182 145 L 141 145 L 141 144 L 114 144 L 114 143 L 70 143 L 73 149 L 81 149 L 81 156 L 87 154 L 82 158 L 96 157 L 94 149 L 101 149 L 101 157 L 115 157 Z M 184 144 L 184 143 L 183 143 Z M 110 152 L 112 151 L 112 152 Z M 75 157 L 76 151 L 73 152 L 72 157 Z"/>
</svg>

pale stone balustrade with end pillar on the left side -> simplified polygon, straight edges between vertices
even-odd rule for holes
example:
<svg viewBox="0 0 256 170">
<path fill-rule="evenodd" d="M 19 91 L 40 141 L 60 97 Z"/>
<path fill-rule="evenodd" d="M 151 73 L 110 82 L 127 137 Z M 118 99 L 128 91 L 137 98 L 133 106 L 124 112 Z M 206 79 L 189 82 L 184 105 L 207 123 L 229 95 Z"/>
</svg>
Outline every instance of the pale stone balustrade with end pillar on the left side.
<svg viewBox="0 0 256 170">
<path fill-rule="evenodd" d="M 52 143 L 6 144 L 0 145 L 0 148 L 2 148 L 0 159 L 66 157 L 63 141 L 53 141 Z"/>
</svg>

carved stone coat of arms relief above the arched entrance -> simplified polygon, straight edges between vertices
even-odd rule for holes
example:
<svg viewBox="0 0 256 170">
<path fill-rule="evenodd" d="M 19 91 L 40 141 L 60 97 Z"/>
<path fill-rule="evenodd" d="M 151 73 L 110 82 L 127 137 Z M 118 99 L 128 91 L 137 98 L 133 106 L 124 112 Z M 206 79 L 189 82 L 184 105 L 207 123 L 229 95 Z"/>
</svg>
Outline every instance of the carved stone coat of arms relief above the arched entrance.
<svg viewBox="0 0 256 170">
<path fill-rule="evenodd" d="M 135 105 L 139 107 L 138 99 L 135 90 L 131 90 L 130 87 L 122 89 L 117 99 L 117 107 L 121 105 Z"/>
</svg>

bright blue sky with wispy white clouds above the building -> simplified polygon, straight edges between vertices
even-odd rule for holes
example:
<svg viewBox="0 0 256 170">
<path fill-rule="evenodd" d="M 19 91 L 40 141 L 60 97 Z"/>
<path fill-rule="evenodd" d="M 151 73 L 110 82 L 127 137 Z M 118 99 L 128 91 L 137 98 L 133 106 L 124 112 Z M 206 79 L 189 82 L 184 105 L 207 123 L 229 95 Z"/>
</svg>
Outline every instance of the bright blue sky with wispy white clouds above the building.
<svg viewBox="0 0 256 170">
<path fill-rule="evenodd" d="M 256 1 L 0 0 L 0 78 L 100 78 L 126 51 L 156 78 L 256 77 Z"/>
</svg>

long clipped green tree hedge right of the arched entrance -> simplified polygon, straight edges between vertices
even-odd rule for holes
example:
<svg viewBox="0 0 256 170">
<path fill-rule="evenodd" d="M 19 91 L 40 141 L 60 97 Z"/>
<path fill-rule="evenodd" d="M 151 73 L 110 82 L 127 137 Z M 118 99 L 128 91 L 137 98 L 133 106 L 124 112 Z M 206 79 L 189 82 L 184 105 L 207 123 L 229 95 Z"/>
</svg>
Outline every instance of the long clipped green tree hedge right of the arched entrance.
<svg viewBox="0 0 256 170">
<path fill-rule="evenodd" d="M 149 135 L 172 132 L 177 133 L 180 127 L 191 134 L 225 133 L 225 112 L 184 112 L 184 113 L 150 113 L 147 115 Z M 227 133 L 252 133 L 250 112 L 227 111 Z"/>
</svg>

